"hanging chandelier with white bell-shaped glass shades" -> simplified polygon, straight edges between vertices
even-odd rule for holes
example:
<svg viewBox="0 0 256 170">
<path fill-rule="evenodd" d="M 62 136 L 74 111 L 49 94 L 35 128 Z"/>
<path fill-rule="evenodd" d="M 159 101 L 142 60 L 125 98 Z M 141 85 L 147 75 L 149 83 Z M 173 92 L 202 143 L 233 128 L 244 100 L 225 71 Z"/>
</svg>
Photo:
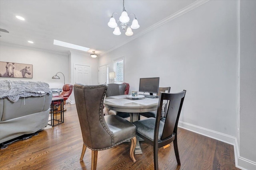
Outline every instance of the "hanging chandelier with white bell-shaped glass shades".
<svg viewBox="0 0 256 170">
<path fill-rule="evenodd" d="M 119 17 L 119 20 L 117 20 L 117 23 L 116 23 L 116 20 L 115 20 L 115 18 L 113 16 L 114 14 L 117 14 L 118 17 Z M 114 35 L 120 35 L 121 34 L 120 28 L 118 27 L 118 22 L 120 22 L 119 25 L 121 26 L 123 31 L 125 31 L 125 29 L 127 27 L 126 32 L 125 32 L 125 35 L 127 35 L 127 36 L 133 35 L 132 29 L 137 29 L 137 28 L 140 27 L 140 25 L 138 24 L 138 20 L 137 20 L 135 14 L 133 14 L 134 15 L 134 19 L 132 21 L 132 25 L 130 25 L 130 18 L 129 18 L 129 16 L 132 15 L 132 14 L 133 13 L 131 13 L 129 15 L 127 14 L 127 12 L 126 12 L 126 10 L 124 8 L 124 0 L 123 0 L 123 12 L 122 12 L 121 16 L 119 16 L 118 13 L 114 12 L 112 14 L 109 22 L 108 22 L 108 26 L 110 28 L 114 28 L 114 31 L 113 31 Z"/>
</svg>

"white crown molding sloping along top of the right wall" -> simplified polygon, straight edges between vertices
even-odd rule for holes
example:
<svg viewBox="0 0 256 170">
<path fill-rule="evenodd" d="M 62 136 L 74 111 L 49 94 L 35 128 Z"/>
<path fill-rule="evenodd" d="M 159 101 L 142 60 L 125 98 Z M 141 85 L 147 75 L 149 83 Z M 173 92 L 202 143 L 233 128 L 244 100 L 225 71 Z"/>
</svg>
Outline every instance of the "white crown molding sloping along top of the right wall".
<svg viewBox="0 0 256 170">
<path fill-rule="evenodd" d="M 161 21 L 159 21 L 159 22 L 157 22 L 157 23 L 151 25 L 151 26 L 148 27 L 147 29 L 144 29 L 144 30 L 141 31 L 140 33 L 138 33 L 138 34 L 132 36 L 132 37 L 131 37 L 130 39 L 128 39 L 127 41 L 124 41 L 124 42 L 120 43 L 119 45 L 117 45 L 117 46 L 115 46 L 115 47 L 109 49 L 108 51 L 106 51 L 106 53 L 103 53 L 102 56 L 105 55 L 105 54 L 107 54 L 107 53 L 110 53 L 111 51 L 113 51 L 113 50 L 115 50 L 115 49 L 117 49 L 117 48 L 119 48 L 119 47 L 125 45 L 126 43 L 128 43 L 128 42 L 130 42 L 130 41 L 132 41 L 132 40 L 134 40 L 134 39 L 136 39 L 136 38 L 138 38 L 138 37 L 140 37 L 140 36 L 142 36 L 142 35 L 144 35 L 144 34 L 150 32 L 150 31 L 156 29 L 157 27 L 160 27 L 161 25 L 164 25 L 165 23 L 167 23 L 167 22 L 169 22 L 169 21 L 171 21 L 171 20 L 173 20 L 173 19 L 175 19 L 175 18 L 177 18 L 177 17 L 179 17 L 179 16 L 181 16 L 181 15 L 183 15 L 183 14 L 186 14 L 187 12 L 189 12 L 189 11 L 191 11 L 191 10 L 197 8 L 198 6 L 201 6 L 202 4 L 205 4 L 206 2 L 209 2 L 209 1 L 210 1 L 210 0 L 197 0 L 197 1 L 193 2 L 192 4 L 186 6 L 185 8 L 183 8 L 183 9 L 181 9 L 181 10 L 175 12 L 174 14 L 172 14 L 172 15 L 170 15 L 170 16 L 164 18 L 163 20 L 161 20 Z"/>
</svg>

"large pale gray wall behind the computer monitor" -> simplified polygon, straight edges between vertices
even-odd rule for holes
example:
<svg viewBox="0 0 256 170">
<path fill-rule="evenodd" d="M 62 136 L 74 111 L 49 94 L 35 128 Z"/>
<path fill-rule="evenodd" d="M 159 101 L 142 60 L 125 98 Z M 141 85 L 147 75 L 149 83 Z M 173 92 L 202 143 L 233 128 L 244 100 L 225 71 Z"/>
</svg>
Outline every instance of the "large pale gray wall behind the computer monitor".
<svg viewBox="0 0 256 170">
<path fill-rule="evenodd" d="M 124 55 L 125 82 L 187 90 L 181 122 L 236 136 L 237 1 L 210 1 L 99 58 Z M 125 35 L 120 35 L 125 36 Z"/>
</svg>

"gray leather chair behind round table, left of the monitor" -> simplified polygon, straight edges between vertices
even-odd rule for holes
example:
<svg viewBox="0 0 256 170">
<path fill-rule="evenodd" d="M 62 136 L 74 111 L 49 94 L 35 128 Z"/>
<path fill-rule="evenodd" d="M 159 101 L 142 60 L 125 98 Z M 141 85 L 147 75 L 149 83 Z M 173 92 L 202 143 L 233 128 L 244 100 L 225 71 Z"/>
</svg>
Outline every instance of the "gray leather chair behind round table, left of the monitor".
<svg viewBox="0 0 256 170">
<path fill-rule="evenodd" d="M 124 91 L 126 88 L 126 84 L 106 84 L 108 87 L 106 97 L 111 97 L 111 96 L 118 96 L 118 95 L 124 95 Z M 125 112 L 120 112 L 120 111 L 114 111 L 114 110 L 109 110 L 108 114 L 110 115 L 118 115 L 122 118 L 130 117 L 129 113 Z"/>
</svg>

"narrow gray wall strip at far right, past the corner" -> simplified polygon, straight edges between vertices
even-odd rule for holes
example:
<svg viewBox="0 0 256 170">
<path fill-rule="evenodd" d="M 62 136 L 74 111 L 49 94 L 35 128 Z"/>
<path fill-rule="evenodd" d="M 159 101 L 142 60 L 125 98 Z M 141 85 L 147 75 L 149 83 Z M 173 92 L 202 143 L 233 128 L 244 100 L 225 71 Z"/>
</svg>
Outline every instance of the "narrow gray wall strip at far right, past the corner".
<svg viewBox="0 0 256 170">
<path fill-rule="evenodd" d="M 240 9 L 240 156 L 256 162 L 256 1 Z"/>
</svg>

